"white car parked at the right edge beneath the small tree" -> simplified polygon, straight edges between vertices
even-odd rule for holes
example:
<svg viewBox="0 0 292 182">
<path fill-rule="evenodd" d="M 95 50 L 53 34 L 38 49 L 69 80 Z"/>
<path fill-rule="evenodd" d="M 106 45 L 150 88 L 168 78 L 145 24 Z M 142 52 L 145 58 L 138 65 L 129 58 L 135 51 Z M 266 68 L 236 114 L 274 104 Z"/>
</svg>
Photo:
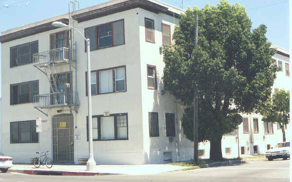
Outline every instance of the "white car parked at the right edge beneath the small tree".
<svg viewBox="0 0 292 182">
<path fill-rule="evenodd" d="M 269 161 L 278 158 L 283 158 L 284 160 L 290 158 L 290 142 L 278 143 L 274 148 L 269 149 L 265 155 Z"/>
</svg>

